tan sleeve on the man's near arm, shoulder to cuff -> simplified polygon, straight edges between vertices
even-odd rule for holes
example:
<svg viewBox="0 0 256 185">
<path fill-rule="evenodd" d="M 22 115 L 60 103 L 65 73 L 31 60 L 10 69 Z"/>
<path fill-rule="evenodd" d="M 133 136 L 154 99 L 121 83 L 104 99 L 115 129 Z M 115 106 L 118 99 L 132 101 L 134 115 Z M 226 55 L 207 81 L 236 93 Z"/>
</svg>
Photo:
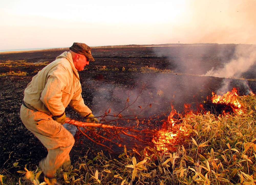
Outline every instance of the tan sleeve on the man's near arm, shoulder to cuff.
<svg viewBox="0 0 256 185">
<path fill-rule="evenodd" d="M 63 90 L 70 81 L 68 73 L 70 73 L 68 68 L 58 65 L 50 70 L 47 75 L 46 85 L 41 93 L 40 100 L 53 116 L 61 115 L 65 111 L 61 98 Z"/>
</svg>

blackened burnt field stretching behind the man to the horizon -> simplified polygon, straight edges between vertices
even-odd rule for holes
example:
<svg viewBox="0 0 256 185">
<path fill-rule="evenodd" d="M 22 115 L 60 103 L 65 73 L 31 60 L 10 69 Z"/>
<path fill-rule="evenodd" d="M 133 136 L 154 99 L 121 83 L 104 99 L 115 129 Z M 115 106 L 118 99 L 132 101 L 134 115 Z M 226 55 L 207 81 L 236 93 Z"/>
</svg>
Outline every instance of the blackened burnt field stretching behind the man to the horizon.
<svg viewBox="0 0 256 185">
<path fill-rule="evenodd" d="M 177 112 L 182 112 L 184 103 L 194 105 L 206 100 L 212 92 L 226 93 L 233 87 L 238 89 L 239 95 L 248 94 L 249 89 L 255 94 L 256 64 L 255 56 L 248 52 L 251 50 L 255 52 L 255 46 L 198 44 L 93 48 L 95 62 L 90 62 L 80 72 L 82 96 L 93 114 L 100 116 L 108 108 L 113 113 L 119 112 L 127 97 L 133 101 L 139 95 L 132 109 L 140 111 L 138 106 L 151 104 L 142 113 L 146 117 L 170 111 L 171 103 Z M 23 91 L 32 77 L 64 51 L 0 54 L 1 169 L 10 168 L 9 171 L 15 173 L 26 164 L 33 169 L 47 155 L 44 146 L 22 124 L 19 109 Z M 213 71 L 214 76 L 206 76 L 208 71 Z M 10 72 L 13 75 L 3 75 L 12 74 Z M 17 75 L 22 72 L 26 75 Z M 66 114 L 78 117 L 70 107 L 66 108 Z M 74 127 L 69 129 L 75 134 Z M 100 150 L 105 149 L 87 138 L 77 138 L 70 152 L 71 163 L 84 155 L 94 158 Z M 14 167 L 15 162 L 18 165 Z"/>
</svg>

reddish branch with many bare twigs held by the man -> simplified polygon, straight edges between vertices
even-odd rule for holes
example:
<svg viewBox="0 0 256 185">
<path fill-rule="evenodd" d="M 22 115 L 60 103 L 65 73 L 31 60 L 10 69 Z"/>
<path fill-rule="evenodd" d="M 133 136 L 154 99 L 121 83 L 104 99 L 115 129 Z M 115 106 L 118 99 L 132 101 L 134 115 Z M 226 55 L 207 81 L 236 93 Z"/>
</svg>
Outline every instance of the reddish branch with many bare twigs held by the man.
<svg viewBox="0 0 256 185">
<path fill-rule="evenodd" d="M 132 108 L 135 101 L 129 104 L 128 97 L 124 109 L 116 114 L 111 114 L 110 108 L 108 108 L 102 116 L 97 117 L 99 123 L 86 122 L 85 118 L 71 119 L 69 117 L 66 118 L 66 123 L 78 128 L 76 135 L 82 134 L 92 142 L 104 146 L 112 152 L 117 152 L 118 147 L 122 147 L 120 149 L 123 150 L 124 145 L 131 149 L 154 146 L 152 139 L 155 136 L 155 129 L 162 126 L 162 119 L 166 116 L 165 114 L 150 117 L 141 116 L 146 108 L 151 107 L 149 103 L 145 108 L 138 106 L 141 111 L 135 114 Z M 129 112 L 131 115 L 124 115 L 124 112 Z"/>
</svg>

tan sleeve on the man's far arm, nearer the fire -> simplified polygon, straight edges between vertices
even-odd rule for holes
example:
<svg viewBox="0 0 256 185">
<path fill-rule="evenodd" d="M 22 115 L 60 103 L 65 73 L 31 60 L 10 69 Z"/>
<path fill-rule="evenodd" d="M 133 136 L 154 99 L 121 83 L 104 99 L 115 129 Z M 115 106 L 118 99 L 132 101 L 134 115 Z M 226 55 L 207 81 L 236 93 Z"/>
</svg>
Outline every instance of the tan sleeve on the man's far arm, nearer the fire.
<svg viewBox="0 0 256 185">
<path fill-rule="evenodd" d="M 89 107 L 84 104 L 82 98 L 82 87 L 80 81 L 78 81 L 76 92 L 74 93 L 69 105 L 80 115 L 80 116 L 87 116 L 91 114 L 92 111 Z"/>
</svg>

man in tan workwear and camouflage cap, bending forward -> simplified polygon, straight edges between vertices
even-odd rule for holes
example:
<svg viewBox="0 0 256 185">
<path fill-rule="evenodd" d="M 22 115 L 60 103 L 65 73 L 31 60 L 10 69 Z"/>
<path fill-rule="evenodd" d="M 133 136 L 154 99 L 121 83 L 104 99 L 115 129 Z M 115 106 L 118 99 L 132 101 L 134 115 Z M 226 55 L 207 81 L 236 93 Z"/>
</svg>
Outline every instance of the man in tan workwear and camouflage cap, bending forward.
<svg viewBox="0 0 256 185">
<path fill-rule="evenodd" d="M 74 42 L 69 49 L 32 78 L 20 108 L 23 124 L 48 150 L 47 157 L 39 162 L 43 171 L 39 180 L 48 184 L 56 184 L 58 168 L 70 166 L 69 152 L 74 137 L 62 126 L 66 119 L 65 108 L 70 105 L 80 116 L 86 116 L 87 122 L 98 122 L 84 104 L 78 74 L 89 65 L 89 60 L 94 61 L 91 48 Z"/>
</svg>

